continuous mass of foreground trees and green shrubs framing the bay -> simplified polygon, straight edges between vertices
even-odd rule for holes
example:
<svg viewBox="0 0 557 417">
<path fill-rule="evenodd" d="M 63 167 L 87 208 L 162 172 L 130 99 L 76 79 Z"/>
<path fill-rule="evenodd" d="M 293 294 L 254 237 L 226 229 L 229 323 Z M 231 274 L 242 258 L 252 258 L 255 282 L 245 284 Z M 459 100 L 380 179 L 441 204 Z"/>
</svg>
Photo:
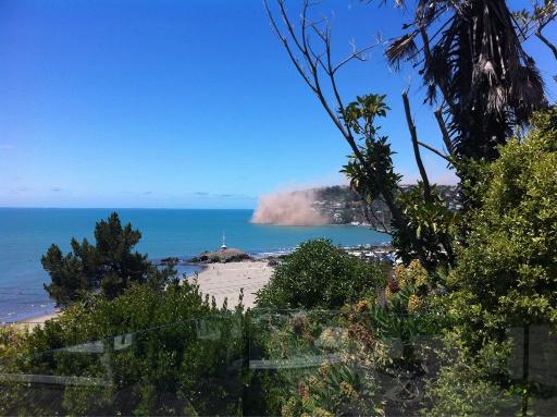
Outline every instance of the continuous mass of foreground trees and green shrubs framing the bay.
<svg viewBox="0 0 557 417">
<path fill-rule="evenodd" d="M 386 271 L 310 241 L 276 267 L 260 308 L 218 308 L 134 252 L 140 233 L 113 213 L 95 244 L 74 238 L 70 254 L 52 245 L 42 257 L 46 290 L 66 307 L 58 320 L 0 329 L 0 414 L 555 414 L 557 110 L 511 134 L 546 106 L 522 42 L 533 26 L 557 58 L 542 35 L 554 1 L 519 13 L 522 28 L 504 0 L 416 3 L 386 56 L 421 66 L 446 152 L 419 142 L 405 93 L 421 177 L 406 189 L 376 124 L 385 96 L 345 106 L 339 94 L 337 70 L 363 56 L 332 63 L 327 20 L 304 4 L 301 36 L 283 0 L 284 33 L 268 7 L 271 24 L 350 146 L 351 188 L 371 214 L 377 199 L 388 207 L 373 224 L 403 265 Z M 461 212 L 430 183 L 421 148 L 456 169 Z"/>
</svg>

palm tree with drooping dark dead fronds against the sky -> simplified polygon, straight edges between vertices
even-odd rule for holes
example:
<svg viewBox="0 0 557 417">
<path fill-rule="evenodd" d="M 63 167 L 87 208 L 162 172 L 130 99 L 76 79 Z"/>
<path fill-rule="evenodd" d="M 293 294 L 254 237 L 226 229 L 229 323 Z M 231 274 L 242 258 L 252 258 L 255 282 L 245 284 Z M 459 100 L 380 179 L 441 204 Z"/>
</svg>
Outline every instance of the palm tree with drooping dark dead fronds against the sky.
<svg viewBox="0 0 557 417">
<path fill-rule="evenodd" d="M 457 159 L 496 159 L 512 126 L 546 105 L 505 0 L 419 0 L 404 28 L 386 57 L 396 69 L 401 61 L 421 64 L 426 101 L 441 102 L 437 120 Z"/>
</svg>

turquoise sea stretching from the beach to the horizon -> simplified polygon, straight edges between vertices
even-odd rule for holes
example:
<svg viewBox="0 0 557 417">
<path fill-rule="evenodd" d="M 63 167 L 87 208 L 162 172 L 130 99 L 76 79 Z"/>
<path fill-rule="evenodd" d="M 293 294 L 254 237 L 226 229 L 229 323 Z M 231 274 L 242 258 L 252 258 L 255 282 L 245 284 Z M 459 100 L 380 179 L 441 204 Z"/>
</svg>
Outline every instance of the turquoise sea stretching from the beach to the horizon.
<svg viewBox="0 0 557 417">
<path fill-rule="evenodd" d="M 0 208 L 0 321 L 49 312 L 53 305 L 44 291 L 49 282 L 40 257 L 55 243 L 64 252 L 70 240 L 92 240 L 95 222 L 112 209 Z M 137 250 L 150 259 L 187 258 L 215 249 L 226 233 L 228 247 L 251 254 L 288 250 L 309 238 L 329 237 L 339 245 L 379 244 L 387 237 L 354 226 L 274 226 L 249 222 L 252 210 L 117 209 L 122 222 L 143 233 Z M 180 272 L 190 272 L 183 268 Z"/>
</svg>

